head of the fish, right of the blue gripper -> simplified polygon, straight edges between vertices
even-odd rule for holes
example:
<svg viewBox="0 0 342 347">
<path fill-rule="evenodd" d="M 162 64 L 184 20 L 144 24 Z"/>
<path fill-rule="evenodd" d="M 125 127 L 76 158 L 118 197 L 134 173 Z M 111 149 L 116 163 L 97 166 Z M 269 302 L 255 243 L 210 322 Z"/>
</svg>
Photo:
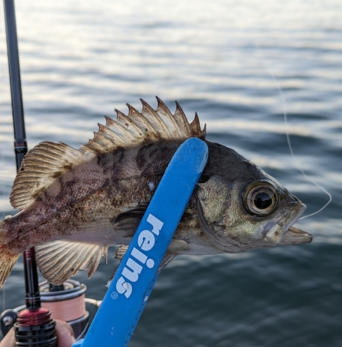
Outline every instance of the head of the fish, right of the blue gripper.
<svg viewBox="0 0 342 347">
<path fill-rule="evenodd" d="M 221 251 L 240 252 L 311 242 L 293 228 L 305 205 L 253 162 L 208 143 L 208 164 L 196 189 L 200 228 Z"/>
</svg>

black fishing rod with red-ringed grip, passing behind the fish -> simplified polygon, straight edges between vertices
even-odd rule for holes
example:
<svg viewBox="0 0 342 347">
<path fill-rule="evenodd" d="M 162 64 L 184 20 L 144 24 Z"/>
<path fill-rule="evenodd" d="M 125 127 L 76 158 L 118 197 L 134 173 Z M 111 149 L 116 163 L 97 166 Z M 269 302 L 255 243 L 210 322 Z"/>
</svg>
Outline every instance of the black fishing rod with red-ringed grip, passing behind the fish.
<svg viewBox="0 0 342 347">
<path fill-rule="evenodd" d="M 14 0 L 3 0 L 6 22 L 8 50 L 8 69 L 10 74 L 10 93 L 12 99 L 12 118 L 15 137 L 15 158 L 19 171 L 24 155 L 27 153 L 26 132 L 24 123 L 24 106 L 22 99 L 22 82 L 19 68 L 19 50 L 17 26 L 15 21 Z M 24 277 L 26 291 L 26 310 L 19 312 L 15 323 L 15 337 L 18 346 L 57 346 L 55 320 L 51 312 L 42 307 L 38 285 L 35 248 L 24 251 Z"/>
</svg>

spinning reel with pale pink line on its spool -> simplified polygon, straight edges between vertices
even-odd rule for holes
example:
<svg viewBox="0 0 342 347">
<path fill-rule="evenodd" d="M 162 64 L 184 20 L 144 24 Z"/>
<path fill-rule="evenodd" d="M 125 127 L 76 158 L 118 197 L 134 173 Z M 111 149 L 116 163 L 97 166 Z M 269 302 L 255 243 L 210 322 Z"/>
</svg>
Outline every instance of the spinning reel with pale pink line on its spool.
<svg viewBox="0 0 342 347">
<path fill-rule="evenodd" d="M 101 301 L 85 298 L 87 287 L 76 280 L 67 280 L 62 285 L 52 285 L 45 281 L 40 283 L 39 289 L 42 307 L 51 311 L 52 318 L 67 321 L 74 330 L 76 340 L 85 337 L 89 328 L 86 303 L 97 310 Z M 22 305 L 1 313 L 0 328 L 3 336 L 15 325 L 19 312 L 25 309 L 26 305 Z"/>
</svg>

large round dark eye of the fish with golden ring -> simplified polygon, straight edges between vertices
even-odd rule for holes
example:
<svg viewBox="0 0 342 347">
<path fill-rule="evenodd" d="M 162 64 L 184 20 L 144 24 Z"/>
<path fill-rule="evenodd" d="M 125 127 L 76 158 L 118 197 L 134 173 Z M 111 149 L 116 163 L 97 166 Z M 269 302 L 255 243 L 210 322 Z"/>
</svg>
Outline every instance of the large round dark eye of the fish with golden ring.
<svg viewBox="0 0 342 347">
<path fill-rule="evenodd" d="M 248 185 L 243 196 L 243 205 L 250 214 L 266 216 L 277 207 L 277 189 L 266 180 L 258 180 Z"/>
</svg>

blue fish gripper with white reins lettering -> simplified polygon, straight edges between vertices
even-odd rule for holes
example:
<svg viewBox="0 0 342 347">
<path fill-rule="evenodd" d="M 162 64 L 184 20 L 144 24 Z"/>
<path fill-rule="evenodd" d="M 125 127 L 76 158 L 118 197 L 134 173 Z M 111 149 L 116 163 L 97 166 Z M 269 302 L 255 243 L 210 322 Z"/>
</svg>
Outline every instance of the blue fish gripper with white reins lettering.
<svg viewBox="0 0 342 347">
<path fill-rule="evenodd" d="M 195 137 L 173 155 L 87 335 L 73 347 L 127 346 L 207 156 L 207 144 Z"/>
</svg>

